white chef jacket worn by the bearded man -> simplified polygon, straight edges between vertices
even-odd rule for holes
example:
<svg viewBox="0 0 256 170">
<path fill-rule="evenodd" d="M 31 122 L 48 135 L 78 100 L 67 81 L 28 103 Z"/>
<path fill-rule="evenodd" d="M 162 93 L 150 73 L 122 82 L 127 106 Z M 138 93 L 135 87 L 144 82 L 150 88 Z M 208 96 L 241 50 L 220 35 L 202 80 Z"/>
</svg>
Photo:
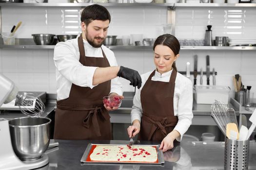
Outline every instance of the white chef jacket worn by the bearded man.
<svg viewBox="0 0 256 170">
<path fill-rule="evenodd" d="M 79 62 L 80 53 L 78 47 L 78 37 L 75 39 L 59 42 L 54 48 L 54 62 L 56 66 L 56 81 L 57 81 L 57 100 L 66 99 L 69 97 L 72 84 L 82 87 L 93 88 L 93 75 L 97 67 L 83 66 Z M 85 54 L 87 57 L 102 57 L 103 54 L 100 48 L 92 47 L 86 40 L 83 39 Z M 118 66 L 114 52 L 105 46 L 101 46 L 110 66 Z M 111 80 L 110 93 L 122 95 L 122 84 L 119 82 L 119 77 Z"/>
</svg>

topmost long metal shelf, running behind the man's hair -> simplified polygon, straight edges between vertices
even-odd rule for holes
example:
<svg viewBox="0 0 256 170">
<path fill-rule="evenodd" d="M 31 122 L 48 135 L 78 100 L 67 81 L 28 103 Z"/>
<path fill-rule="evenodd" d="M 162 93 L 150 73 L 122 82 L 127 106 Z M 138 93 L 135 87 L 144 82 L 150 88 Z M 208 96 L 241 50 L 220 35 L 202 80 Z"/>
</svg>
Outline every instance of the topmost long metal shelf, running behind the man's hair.
<svg viewBox="0 0 256 170">
<path fill-rule="evenodd" d="M 53 7 L 75 7 L 89 6 L 95 3 L 0 3 L 0 6 L 53 6 Z M 102 6 L 116 7 L 163 7 L 170 9 L 175 7 L 256 7 L 256 3 L 100 3 Z"/>
</svg>

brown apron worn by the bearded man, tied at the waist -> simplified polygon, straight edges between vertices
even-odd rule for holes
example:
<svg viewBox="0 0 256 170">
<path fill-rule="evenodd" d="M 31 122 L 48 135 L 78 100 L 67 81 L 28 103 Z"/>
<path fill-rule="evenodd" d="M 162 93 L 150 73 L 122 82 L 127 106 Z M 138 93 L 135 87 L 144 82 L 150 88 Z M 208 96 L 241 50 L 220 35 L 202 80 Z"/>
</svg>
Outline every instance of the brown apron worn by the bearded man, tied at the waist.
<svg viewBox="0 0 256 170">
<path fill-rule="evenodd" d="M 78 38 L 80 59 L 83 66 L 109 67 L 104 51 L 102 57 L 86 57 L 82 35 Z M 111 123 L 103 106 L 103 97 L 110 92 L 111 81 L 92 89 L 72 84 L 69 97 L 57 101 L 55 114 L 55 139 L 105 139 L 110 140 Z"/>
</svg>

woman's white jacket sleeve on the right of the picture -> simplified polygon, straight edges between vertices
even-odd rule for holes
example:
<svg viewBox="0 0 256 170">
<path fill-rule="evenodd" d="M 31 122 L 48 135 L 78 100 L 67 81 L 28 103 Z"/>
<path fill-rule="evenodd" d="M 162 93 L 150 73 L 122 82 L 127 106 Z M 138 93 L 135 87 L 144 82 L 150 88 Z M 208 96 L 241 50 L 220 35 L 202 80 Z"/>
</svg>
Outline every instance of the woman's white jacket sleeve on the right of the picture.
<svg viewBox="0 0 256 170">
<path fill-rule="evenodd" d="M 192 124 L 193 119 L 193 87 L 192 82 L 186 81 L 183 88 L 181 88 L 178 106 L 177 106 L 177 116 L 178 122 L 174 130 L 177 130 L 180 134 L 180 138 L 177 140 L 180 141 L 184 133 L 188 130 L 189 126 Z"/>
</svg>

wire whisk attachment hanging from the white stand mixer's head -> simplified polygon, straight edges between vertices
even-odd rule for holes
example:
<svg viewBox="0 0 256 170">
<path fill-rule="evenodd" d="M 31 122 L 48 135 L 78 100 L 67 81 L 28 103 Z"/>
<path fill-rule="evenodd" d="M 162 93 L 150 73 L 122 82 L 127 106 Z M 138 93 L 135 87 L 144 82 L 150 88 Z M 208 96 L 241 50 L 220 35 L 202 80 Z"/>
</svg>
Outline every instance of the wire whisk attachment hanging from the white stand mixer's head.
<svg viewBox="0 0 256 170">
<path fill-rule="evenodd" d="M 33 93 L 19 93 L 16 96 L 16 104 L 23 114 L 30 117 L 39 117 L 45 110 L 45 106 L 41 99 Z"/>
</svg>

